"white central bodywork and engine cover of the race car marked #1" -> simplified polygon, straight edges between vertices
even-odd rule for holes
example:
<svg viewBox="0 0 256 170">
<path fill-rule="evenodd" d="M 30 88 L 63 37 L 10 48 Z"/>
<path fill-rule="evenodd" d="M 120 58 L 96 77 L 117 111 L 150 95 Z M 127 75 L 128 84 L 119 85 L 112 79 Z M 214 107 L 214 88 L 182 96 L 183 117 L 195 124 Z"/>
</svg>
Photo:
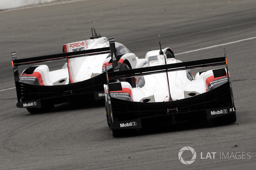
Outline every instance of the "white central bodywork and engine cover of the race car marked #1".
<svg viewBox="0 0 256 170">
<path fill-rule="evenodd" d="M 162 55 L 162 57 L 166 56 Z M 161 58 L 160 55 L 158 55 L 157 58 L 158 60 L 151 61 L 151 63 L 148 64 L 148 67 L 165 64 L 164 58 Z M 166 58 L 166 60 L 167 64 L 181 62 L 175 58 Z M 143 78 L 145 85 L 141 88 L 136 87 L 132 89 L 134 101 L 140 101 L 142 98 L 151 95 L 154 95 L 156 102 L 170 100 L 166 73 L 146 75 L 143 76 Z M 206 92 L 204 79 L 190 81 L 187 78 L 186 70 L 168 72 L 168 79 L 172 100 L 184 99 L 184 91 L 195 91 L 198 93 Z"/>
</svg>

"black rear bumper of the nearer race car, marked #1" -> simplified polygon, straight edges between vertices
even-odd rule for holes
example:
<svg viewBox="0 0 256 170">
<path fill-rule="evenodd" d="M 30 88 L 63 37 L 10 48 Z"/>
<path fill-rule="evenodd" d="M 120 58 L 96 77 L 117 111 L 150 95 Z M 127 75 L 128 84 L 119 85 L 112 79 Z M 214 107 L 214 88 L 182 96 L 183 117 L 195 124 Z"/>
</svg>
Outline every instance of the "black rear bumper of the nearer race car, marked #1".
<svg viewBox="0 0 256 170">
<path fill-rule="evenodd" d="M 209 92 L 169 102 L 134 102 L 111 98 L 113 129 L 140 129 L 146 123 L 177 124 L 236 114 L 227 82 Z"/>
</svg>

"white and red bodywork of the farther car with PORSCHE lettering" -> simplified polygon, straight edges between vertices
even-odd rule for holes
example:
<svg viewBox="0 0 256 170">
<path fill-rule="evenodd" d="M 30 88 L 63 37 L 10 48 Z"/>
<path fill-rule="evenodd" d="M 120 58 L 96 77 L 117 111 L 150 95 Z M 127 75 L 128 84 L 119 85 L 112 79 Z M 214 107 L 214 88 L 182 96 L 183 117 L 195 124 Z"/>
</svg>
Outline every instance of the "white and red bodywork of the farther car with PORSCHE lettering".
<svg viewBox="0 0 256 170">
<path fill-rule="evenodd" d="M 131 53 L 123 44 L 115 42 L 115 45 L 116 48 L 119 49 L 118 52 L 124 54 L 119 62 L 122 62 L 122 64 L 129 63 L 130 69 L 142 67 L 144 64 L 148 63 L 145 62 L 144 59 L 138 59 L 138 57 Z M 109 41 L 106 37 L 77 41 L 63 46 L 65 52 L 104 47 L 109 47 Z M 104 70 L 104 63 L 108 64 L 110 59 L 109 54 L 69 58 L 62 69 L 49 71 L 48 66 L 44 64 L 38 66 L 30 76 L 37 78 L 40 85 L 67 85 L 70 82 L 76 83 L 84 81 L 101 74 Z M 112 65 L 110 68 L 112 68 Z M 21 79 L 22 77 L 25 79 L 26 74 L 23 74 L 24 71 L 21 74 Z"/>
</svg>

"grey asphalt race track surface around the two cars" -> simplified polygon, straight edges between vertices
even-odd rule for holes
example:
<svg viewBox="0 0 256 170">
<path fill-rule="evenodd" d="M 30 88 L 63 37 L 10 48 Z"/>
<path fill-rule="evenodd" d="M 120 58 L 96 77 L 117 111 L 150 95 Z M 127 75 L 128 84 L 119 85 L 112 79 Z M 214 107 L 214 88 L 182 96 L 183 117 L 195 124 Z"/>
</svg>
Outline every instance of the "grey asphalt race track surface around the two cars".
<svg viewBox="0 0 256 170">
<path fill-rule="evenodd" d="M 255 1 L 56 2 L 0 11 L 0 169 L 255 169 Z M 171 47 L 181 61 L 220 57 L 225 47 L 236 123 L 173 126 L 114 138 L 103 102 L 62 104 L 34 115 L 17 108 L 11 52 L 18 58 L 61 53 L 62 44 L 88 39 L 94 21 L 97 32 L 140 58 L 158 48 L 159 34 L 162 47 Z M 197 154 L 191 165 L 178 158 L 185 146 Z M 211 158 L 216 152 L 215 159 L 208 152 Z M 192 154 L 182 157 L 189 160 Z"/>
</svg>

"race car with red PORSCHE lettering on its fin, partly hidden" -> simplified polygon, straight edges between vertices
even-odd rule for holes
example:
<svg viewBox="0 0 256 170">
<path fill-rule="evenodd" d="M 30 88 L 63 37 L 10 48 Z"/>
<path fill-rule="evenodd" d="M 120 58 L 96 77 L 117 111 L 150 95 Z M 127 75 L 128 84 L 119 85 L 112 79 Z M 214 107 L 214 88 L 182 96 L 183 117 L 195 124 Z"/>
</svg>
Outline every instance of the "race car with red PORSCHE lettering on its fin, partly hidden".
<svg viewBox="0 0 256 170">
<path fill-rule="evenodd" d="M 119 71 L 142 67 L 148 63 L 147 59 L 138 59 L 123 44 L 115 42 L 115 39 L 108 41 L 97 33 L 92 33 L 90 40 L 63 45 L 63 52 L 25 59 L 16 59 L 16 52 L 12 52 L 17 107 L 36 113 L 60 103 L 104 99 L 104 64 L 108 71 L 113 71 L 113 65 L 114 71 Z M 61 69 L 52 71 L 45 64 L 31 66 L 19 75 L 20 65 L 55 60 L 67 60 L 67 63 Z M 130 84 L 136 85 L 134 79 L 130 80 Z"/>
</svg>

